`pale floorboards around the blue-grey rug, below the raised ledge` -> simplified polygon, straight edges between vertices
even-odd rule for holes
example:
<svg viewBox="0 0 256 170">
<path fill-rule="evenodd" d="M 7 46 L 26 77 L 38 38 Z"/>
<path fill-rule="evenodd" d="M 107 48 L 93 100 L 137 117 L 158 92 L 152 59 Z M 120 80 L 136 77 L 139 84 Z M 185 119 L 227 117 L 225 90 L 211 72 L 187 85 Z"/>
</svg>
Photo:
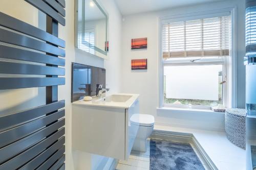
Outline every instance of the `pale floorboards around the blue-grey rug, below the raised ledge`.
<svg viewBox="0 0 256 170">
<path fill-rule="evenodd" d="M 193 145 L 191 145 L 195 151 Z M 198 155 L 198 154 L 197 154 Z M 199 157 L 201 160 L 201 158 Z M 202 161 L 201 161 L 202 162 Z M 127 161 L 120 160 L 116 170 L 149 170 L 150 169 L 150 139 L 147 140 L 147 151 L 132 151 Z"/>
</svg>

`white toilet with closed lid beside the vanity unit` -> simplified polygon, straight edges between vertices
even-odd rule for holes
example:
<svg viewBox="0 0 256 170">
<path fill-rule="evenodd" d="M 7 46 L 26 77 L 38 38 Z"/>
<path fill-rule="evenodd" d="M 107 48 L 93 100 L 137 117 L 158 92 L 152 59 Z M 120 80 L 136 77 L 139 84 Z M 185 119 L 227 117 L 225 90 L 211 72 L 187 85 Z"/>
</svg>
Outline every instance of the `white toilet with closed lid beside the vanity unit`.
<svg viewBox="0 0 256 170">
<path fill-rule="evenodd" d="M 130 120 L 132 125 L 138 126 L 138 133 L 132 150 L 146 152 L 146 139 L 153 132 L 155 118 L 148 114 L 134 114 Z"/>
</svg>

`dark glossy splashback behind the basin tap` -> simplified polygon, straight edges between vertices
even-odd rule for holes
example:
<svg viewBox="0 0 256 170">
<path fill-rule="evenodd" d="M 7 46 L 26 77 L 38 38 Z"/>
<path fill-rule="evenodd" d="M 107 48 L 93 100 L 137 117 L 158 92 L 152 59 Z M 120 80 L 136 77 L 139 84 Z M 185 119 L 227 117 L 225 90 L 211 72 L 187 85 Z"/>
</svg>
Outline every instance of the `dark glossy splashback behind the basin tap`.
<svg viewBox="0 0 256 170">
<path fill-rule="evenodd" d="M 106 84 L 106 70 L 78 63 L 72 63 L 71 102 L 83 99 L 84 96 L 96 95 L 97 84 Z"/>
</svg>

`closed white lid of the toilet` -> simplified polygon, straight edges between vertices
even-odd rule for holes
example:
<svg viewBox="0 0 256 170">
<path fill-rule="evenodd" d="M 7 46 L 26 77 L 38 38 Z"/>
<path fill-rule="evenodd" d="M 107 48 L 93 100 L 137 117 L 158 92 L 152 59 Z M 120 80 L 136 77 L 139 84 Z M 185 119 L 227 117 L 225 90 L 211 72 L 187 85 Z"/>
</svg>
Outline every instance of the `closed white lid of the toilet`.
<svg viewBox="0 0 256 170">
<path fill-rule="evenodd" d="M 131 117 L 131 123 L 138 126 L 154 126 L 155 118 L 148 114 L 134 114 Z"/>
</svg>

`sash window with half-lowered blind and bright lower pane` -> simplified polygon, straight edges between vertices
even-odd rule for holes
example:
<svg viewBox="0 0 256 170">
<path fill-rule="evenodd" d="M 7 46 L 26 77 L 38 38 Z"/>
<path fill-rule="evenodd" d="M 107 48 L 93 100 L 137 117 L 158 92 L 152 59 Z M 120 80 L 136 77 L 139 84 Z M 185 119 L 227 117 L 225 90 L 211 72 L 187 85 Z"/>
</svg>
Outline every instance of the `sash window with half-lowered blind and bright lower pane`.
<svg viewBox="0 0 256 170">
<path fill-rule="evenodd" d="M 227 105 L 230 15 L 162 24 L 163 105 Z"/>
</svg>

